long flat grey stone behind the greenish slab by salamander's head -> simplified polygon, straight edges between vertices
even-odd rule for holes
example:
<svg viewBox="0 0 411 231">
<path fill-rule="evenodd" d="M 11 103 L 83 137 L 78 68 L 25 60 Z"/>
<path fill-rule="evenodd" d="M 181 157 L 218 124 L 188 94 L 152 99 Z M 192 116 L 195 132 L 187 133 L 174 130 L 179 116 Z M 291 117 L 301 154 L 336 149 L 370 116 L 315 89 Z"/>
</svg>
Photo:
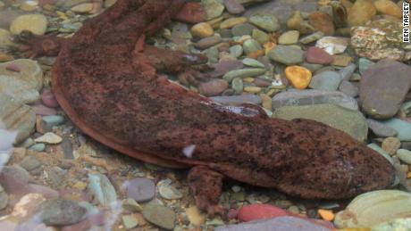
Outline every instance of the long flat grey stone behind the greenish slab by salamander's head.
<svg viewBox="0 0 411 231">
<path fill-rule="evenodd" d="M 287 91 L 273 96 L 273 108 L 283 106 L 298 106 L 310 104 L 332 103 L 351 110 L 358 110 L 358 104 L 354 98 L 340 92 L 303 90 Z"/>
</svg>

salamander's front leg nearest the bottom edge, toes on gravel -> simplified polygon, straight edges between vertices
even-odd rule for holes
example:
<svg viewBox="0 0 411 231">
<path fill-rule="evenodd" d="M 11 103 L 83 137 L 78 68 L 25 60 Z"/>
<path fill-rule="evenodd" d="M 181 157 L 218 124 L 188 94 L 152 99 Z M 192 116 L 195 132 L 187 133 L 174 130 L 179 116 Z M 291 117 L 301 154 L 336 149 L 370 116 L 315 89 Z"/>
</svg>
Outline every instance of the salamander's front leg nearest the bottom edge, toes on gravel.
<svg viewBox="0 0 411 231">
<path fill-rule="evenodd" d="M 205 166 L 197 166 L 189 171 L 189 186 L 193 191 L 197 207 L 206 210 L 210 217 L 224 213 L 222 206 L 218 205 L 222 194 L 222 178 L 222 174 Z"/>
</svg>

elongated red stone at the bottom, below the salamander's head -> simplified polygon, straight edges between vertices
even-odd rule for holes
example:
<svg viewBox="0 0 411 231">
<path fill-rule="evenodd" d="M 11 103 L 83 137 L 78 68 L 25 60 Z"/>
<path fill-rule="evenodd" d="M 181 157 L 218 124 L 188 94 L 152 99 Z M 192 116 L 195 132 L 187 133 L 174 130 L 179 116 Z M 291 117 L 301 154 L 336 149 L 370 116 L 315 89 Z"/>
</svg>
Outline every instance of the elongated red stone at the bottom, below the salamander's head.
<svg viewBox="0 0 411 231">
<path fill-rule="evenodd" d="M 255 203 L 239 210 L 239 220 L 247 222 L 256 219 L 273 219 L 289 216 L 289 212 L 269 204 Z"/>
</svg>

